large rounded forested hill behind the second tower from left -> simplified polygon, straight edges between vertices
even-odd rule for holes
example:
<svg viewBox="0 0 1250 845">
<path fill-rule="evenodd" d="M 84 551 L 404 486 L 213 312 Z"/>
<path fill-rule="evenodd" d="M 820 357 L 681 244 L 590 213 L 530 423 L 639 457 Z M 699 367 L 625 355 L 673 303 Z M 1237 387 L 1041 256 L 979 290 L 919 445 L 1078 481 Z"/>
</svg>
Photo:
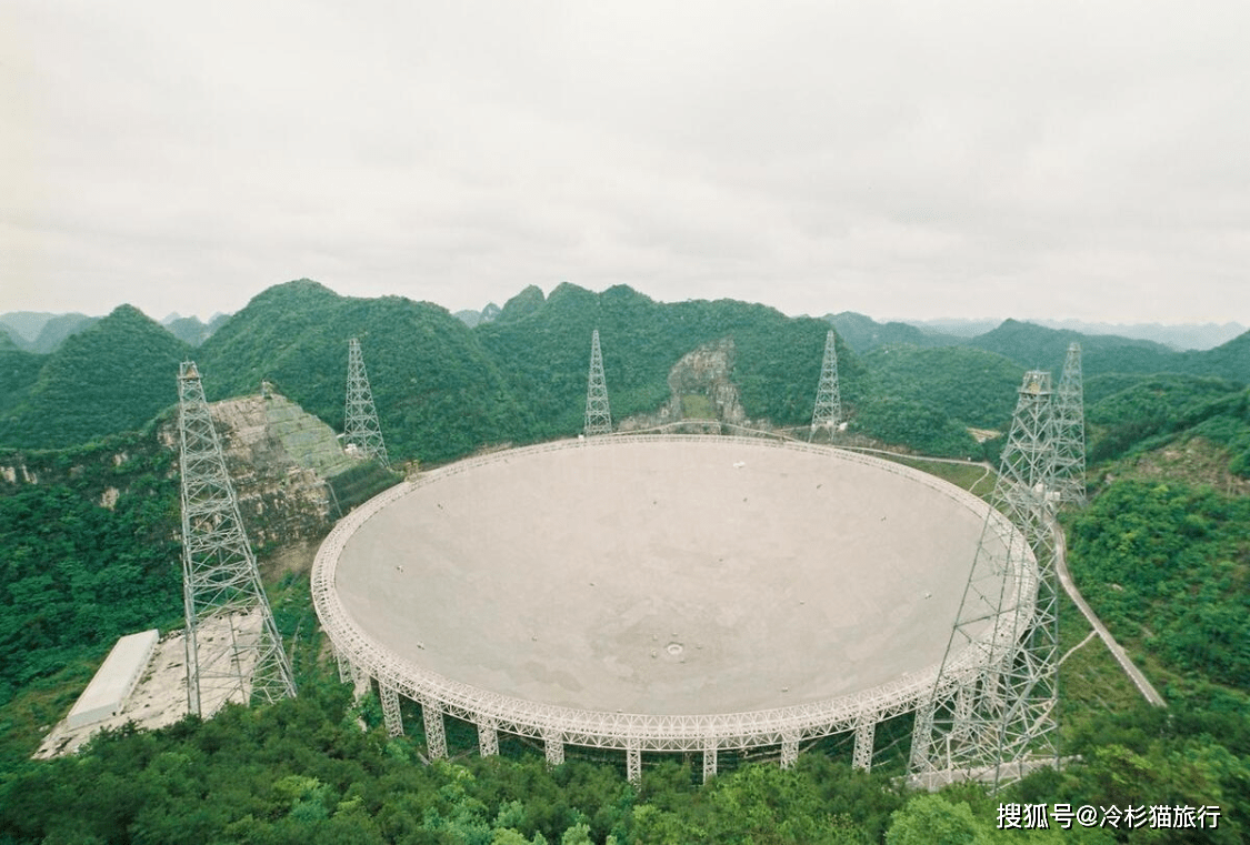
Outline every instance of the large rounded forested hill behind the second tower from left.
<svg viewBox="0 0 1250 845">
<path fill-rule="evenodd" d="M 352 299 L 314 281 L 270 288 L 196 350 L 209 399 L 261 380 L 342 430 L 348 341 L 360 340 L 392 459 L 448 460 L 522 438 L 525 412 L 495 362 L 446 309 Z"/>
</svg>

